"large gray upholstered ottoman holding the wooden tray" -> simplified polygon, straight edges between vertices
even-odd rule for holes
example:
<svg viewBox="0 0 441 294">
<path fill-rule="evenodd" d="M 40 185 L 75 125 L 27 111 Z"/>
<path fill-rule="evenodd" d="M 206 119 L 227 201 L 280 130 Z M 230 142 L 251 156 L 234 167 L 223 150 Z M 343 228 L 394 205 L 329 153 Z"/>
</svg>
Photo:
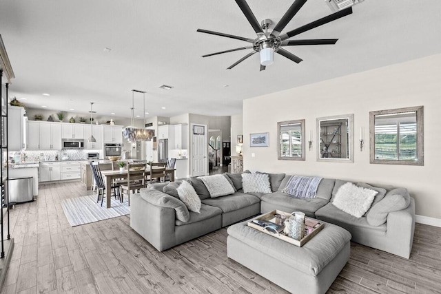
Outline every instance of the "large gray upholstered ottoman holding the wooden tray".
<svg viewBox="0 0 441 294">
<path fill-rule="evenodd" d="M 351 234 L 334 224 L 304 246 L 247 226 L 227 229 L 227 255 L 291 293 L 325 293 L 349 260 Z"/>
</svg>

